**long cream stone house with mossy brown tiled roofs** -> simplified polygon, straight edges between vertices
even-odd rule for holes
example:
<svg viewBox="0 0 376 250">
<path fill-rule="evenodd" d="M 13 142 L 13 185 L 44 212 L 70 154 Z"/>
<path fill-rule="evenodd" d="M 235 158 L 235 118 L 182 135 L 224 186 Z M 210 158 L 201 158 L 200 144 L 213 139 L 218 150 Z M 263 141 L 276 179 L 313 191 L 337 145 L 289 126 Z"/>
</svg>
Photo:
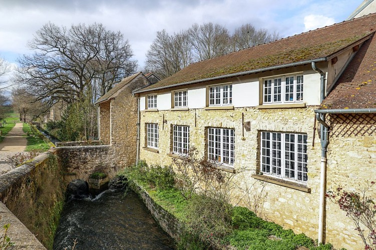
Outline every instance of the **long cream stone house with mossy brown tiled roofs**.
<svg viewBox="0 0 376 250">
<path fill-rule="evenodd" d="M 234 178 L 234 204 L 263 195 L 267 219 L 361 248 L 324 194 L 376 176 L 374 30 L 369 14 L 193 63 L 154 84 L 140 72 L 97 101 L 100 139 L 129 148 L 125 163 L 170 164 L 195 146 L 224 171 L 246 170 Z"/>
</svg>

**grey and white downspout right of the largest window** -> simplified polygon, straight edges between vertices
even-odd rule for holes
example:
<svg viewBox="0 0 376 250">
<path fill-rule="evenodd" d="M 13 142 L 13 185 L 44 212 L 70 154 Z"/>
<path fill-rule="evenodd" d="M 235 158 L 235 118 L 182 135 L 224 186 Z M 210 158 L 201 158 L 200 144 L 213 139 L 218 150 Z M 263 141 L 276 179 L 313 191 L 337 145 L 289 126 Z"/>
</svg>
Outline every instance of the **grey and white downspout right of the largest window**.
<svg viewBox="0 0 376 250">
<path fill-rule="evenodd" d="M 311 62 L 312 69 L 320 74 L 320 103 L 325 98 L 325 73 L 317 68 L 315 62 Z M 320 122 L 321 134 L 321 164 L 320 164 L 320 201 L 318 213 L 318 244 L 323 243 L 324 236 L 324 211 L 325 211 L 325 183 L 326 183 L 326 149 L 328 145 L 329 126 L 325 123 L 325 114 L 316 114 L 316 119 Z"/>
</svg>

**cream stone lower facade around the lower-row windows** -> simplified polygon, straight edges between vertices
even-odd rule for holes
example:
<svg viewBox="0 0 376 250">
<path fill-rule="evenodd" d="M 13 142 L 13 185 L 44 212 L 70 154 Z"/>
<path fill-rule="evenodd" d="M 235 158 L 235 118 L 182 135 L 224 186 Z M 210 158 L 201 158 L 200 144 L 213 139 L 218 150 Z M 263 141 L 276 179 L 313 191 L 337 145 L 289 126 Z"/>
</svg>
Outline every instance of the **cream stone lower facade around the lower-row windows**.
<svg viewBox="0 0 376 250">
<path fill-rule="evenodd" d="M 205 130 L 207 127 L 225 127 L 235 129 L 235 163 L 234 168 L 240 172 L 234 179 L 232 189 L 233 204 L 252 208 L 255 196 L 262 197 L 263 217 L 285 228 L 292 228 L 296 233 L 304 232 L 312 238 L 318 235 L 318 210 L 319 210 L 319 175 L 321 146 L 317 131 L 315 131 L 314 146 L 313 126 L 315 106 L 306 108 L 285 109 L 257 109 L 235 108 L 235 110 L 163 110 L 158 112 L 142 112 L 141 115 L 141 151 L 140 159 L 148 163 L 171 164 L 172 158 L 168 155 L 171 151 L 171 124 L 190 126 L 190 146 L 195 146 L 202 154 L 206 148 Z M 242 113 L 244 122 L 250 122 L 250 130 L 242 128 Z M 164 121 L 162 119 L 164 118 Z M 145 144 L 145 123 L 159 124 L 159 152 L 142 148 Z M 308 181 L 306 186 L 310 192 L 292 189 L 269 182 L 257 180 L 252 177 L 259 170 L 259 132 L 260 130 L 299 132 L 307 134 L 308 154 Z M 332 145 L 334 145 L 333 142 Z M 330 170 L 331 171 L 331 170 Z M 329 172 L 330 172 L 329 171 Z M 348 172 L 347 174 L 350 174 Z M 349 223 L 339 208 L 330 207 L 338 221 L 338 231 L 349 228 Z M 333 216 L 334 219 L 334 216 Z M 327 227 L 327 228 L 332 228 Z M 346 231 L 348 243 L 354 246 L 359 244 L 359 237 L 355 231 Z M 326 234 L 326 242 L 333 243 L 336 247 L 342 244 L 343 236 L 335 233 Z M 351 247 L 350 247 L 351 248 Z"/>
</svg>

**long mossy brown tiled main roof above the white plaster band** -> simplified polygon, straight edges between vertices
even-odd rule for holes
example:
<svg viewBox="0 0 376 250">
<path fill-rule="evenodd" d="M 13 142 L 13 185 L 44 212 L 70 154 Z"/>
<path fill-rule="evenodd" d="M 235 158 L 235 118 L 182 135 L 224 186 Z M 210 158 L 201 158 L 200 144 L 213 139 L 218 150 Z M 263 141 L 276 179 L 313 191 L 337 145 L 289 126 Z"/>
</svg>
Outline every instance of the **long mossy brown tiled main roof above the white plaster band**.
<svg viewBox="0 0 376 250">
<path fill-rule="evenodd" d="M 192 63 L 179 72 L 137 92 L 175 84 L 205 81 L 212 77 L 305 62 L 331 54 L 355 43 L 376 29 L 376 14 L 369 14 L 274 42 Z"/>
</svg>

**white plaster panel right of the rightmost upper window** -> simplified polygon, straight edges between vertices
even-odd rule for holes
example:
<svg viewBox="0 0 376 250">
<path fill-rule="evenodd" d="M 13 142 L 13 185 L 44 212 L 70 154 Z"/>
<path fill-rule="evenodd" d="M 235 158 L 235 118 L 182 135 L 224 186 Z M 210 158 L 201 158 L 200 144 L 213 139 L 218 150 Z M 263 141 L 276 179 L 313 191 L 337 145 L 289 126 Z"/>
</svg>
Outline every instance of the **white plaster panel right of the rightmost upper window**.
<svg viewBox="0 0 376 250">
<path fill-rule="evenodd" d="M 304 74 L 303 101 L 306 105 L 320 105 L 320 74 Z"/>
</svg>

